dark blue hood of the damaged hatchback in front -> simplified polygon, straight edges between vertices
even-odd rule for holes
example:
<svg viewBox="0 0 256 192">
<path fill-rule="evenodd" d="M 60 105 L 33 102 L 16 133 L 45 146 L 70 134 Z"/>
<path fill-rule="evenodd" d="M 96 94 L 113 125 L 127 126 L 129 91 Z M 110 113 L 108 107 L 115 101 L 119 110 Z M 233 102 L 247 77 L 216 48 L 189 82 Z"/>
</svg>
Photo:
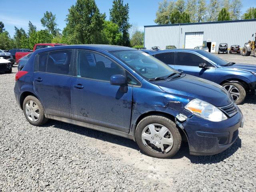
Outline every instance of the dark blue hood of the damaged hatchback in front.
<svg viewBox="0 0 256 192">
<path fill-rule="evenodd" d="M 220 85 L 191 75 L 182 78 L 156 82 L 165 92 L 204 100 L 214 106 L 227 106 L 232 103 L 230 94 Z"/>
</svg>

